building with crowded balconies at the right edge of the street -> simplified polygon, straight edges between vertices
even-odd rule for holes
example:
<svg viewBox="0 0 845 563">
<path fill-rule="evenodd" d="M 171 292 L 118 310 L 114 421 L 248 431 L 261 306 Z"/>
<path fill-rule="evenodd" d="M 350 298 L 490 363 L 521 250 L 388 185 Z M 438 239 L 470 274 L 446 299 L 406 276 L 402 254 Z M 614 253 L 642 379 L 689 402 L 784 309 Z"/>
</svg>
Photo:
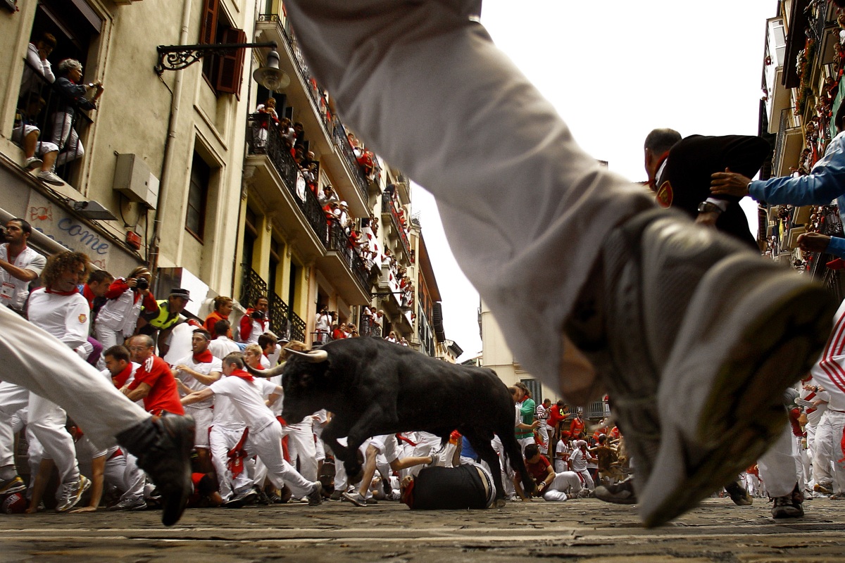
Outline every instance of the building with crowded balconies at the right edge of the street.
<svg viewBox="0 0 845 563">
<path fill-rule="evenodd" d="M 761 179 L 803 176 L 836 136 L 832 116 L 842 104 L 845 48 L 842 26 L 829 0 L 785 0 L 766 20 L 760 100 L 760 136 L 772 144 Z M 795 207 L 760 204 L 758 241 L 766 255 L 810 273 L 842 299 L 842 276 L 827 268 L 833 257 L 803 252 L 799 235 L 842 235 L 835 202 Z"/>
</svg>

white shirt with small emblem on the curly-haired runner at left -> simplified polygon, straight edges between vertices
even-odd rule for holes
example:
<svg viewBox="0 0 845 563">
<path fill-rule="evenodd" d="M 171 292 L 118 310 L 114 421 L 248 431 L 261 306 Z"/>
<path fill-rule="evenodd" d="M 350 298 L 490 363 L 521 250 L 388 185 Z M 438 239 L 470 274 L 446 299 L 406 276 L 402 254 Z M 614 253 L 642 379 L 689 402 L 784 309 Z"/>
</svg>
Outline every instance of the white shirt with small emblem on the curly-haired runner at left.
<svg viewBox="0 0 845 563">
<path fill-rule="evenodd" d="M 91 311 L 82 294 L 74 291 L 71 295 L 58 295 L 47 293 L 42 287 L 30 295 L 27 311 L 32 324 L 71 349 L 88 343 Z"/>
</svg>

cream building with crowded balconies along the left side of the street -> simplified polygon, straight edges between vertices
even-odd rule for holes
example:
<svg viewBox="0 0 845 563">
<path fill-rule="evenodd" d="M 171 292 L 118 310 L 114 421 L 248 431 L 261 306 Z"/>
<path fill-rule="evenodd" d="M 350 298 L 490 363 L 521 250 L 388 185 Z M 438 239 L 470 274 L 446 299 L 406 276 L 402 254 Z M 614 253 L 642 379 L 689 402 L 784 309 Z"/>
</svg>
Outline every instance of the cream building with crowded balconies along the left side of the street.
<svg viewBox="0 0 845 563">
<path fill-rule="evenodd" d="M 424 242 L 412 235 L 409 182 L 335 115 L 280 0 L 17 8 L 0 5 L 0 41 L 12 54 L 0 72 L 0 219 L 29 220 L 32 246 L 86 252 L 115 276 L 147 264 L 156 295 L 191 290 L 187 311 L 198 317 L 215 295 L 232 295 L 237 321 L 266 295 L 271 329 L 308 344 L 324 307 L 362 334 L 395 331 L 427 353 L 442 344 L 433 271 L 415 266 Z M 95 109 L 64 98 L 44 72 L 36 44 L 45 34 L 56 40 L 46 57 L 54 72 L 73 58 L 83 84 L 101 81 Z M 271 92 L 253 79 L 269 46 L 208 53 L 179 70 L 167 67 L 193 55 L 157 48 L 248 42 L 275 42 L 290 83 Z M 24 169 L 21 116 L 60 146 L 62 185 Z M 277 127 L 285 119 L 290 128 Z M 384 311 L 378 323 L 365 306 Z"/>
</svg>

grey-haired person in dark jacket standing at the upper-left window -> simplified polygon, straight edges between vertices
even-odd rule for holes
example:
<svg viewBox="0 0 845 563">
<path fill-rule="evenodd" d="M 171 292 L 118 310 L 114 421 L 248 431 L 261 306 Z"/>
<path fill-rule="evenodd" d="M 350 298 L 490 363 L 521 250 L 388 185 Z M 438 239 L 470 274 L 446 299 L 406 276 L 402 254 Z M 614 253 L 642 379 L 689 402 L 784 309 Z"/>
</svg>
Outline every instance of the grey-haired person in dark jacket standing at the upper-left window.
<svg viewBox="0 0 845 563">
<path fill-rule="evenodd" d="M 96 102 L 103 93 L 102 81 L 88 85 L 79 84 L 82 79 L 82 63 L 66 58 L 58 63 L 56 88 L 59 93 L 59 105 L 53 114 L 52 143 L 58 145 L 56 165 L 62 166 L 72 160 L 82 158 L 85 149 L 79 140 L 74 124 L 77 108 L 85 111 L 97 109 Z"/>
</svg>

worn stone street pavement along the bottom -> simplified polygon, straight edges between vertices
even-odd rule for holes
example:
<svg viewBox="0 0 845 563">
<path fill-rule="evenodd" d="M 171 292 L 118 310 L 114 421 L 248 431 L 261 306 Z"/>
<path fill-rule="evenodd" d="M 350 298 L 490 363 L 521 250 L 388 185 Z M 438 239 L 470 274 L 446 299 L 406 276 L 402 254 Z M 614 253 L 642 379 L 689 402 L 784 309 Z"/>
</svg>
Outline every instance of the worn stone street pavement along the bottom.
<svg viewBox="0 0 845 563">
<path fill-rule="evenodd" d="M 807 502 L 806 517 L 779 522 L 770 506 L 709 499 L 652 530 L 633 506 L 593 499 L 473 512 L 411 512 L 395 502 L 194 509 L 174 528 L 161 526 L 159 512 L 0 515 L 0 563 L 845 561 L 845 501 Z"/>
</svg>

